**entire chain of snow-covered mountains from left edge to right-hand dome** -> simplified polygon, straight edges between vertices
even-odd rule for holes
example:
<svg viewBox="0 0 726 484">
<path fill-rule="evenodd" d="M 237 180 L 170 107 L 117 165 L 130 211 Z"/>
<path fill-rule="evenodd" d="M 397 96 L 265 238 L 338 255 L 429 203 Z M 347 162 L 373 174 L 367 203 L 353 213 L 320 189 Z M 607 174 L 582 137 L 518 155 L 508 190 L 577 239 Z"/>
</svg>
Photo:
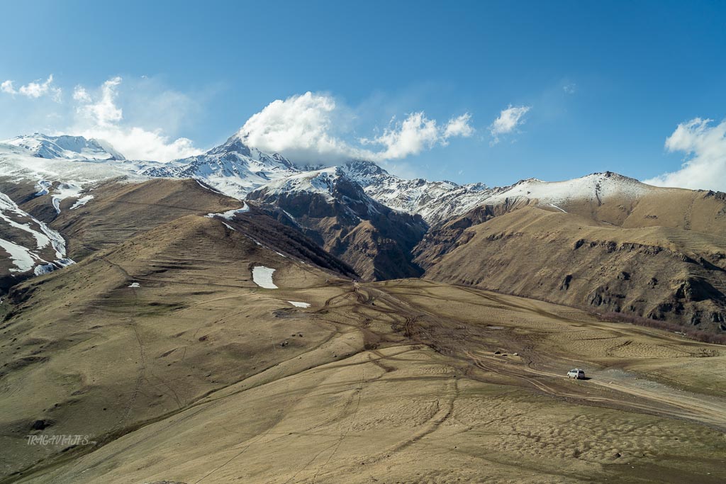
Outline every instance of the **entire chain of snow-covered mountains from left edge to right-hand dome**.
<svg viewBox="0 0 726 484">
<path fill-rule="evenodd" d="M 309 170 L 293 165 L 282 155 L 248 147 L 237 134 L 203 155 L 168 163 L 126 160 L 109 144 L 82 136 L 17 136 L 0 143 L 0 169 L 5 176 L 38 184 L 38 194 L 54 190 L 54 205 L 62 198 L 86 197 L 89 186 L 123 176 L 130 181 L 150 177 L 193 178 L 229 196 L 244 199 L 248 193 L 269 186 L 271 190 L 298 189 L 301 184 L 324 189 L 326 177 L 340 176 L 359 184 L 373 200 L 394 210 L 419 214 L 429 224 L 461 216 L 484 203 L 496 205 L 513 200 L 539 200 L 540 205 L 560 208 L 569 199 L 602 202 L 611 194 L 636 197 L 648 185 L 615 173 L 593 173 L 570 181 L 519 181 L 512 186 L 489 188 L 475 183 L 402 179 L 380 166 L 355 160 L 338 168 Z M 324 186 L 325 185 L 325 186 Z M 55 187 L 55 188 L 54 188 Z M 59 208 L 56 206 L 56 210 Z"/>
</svg>

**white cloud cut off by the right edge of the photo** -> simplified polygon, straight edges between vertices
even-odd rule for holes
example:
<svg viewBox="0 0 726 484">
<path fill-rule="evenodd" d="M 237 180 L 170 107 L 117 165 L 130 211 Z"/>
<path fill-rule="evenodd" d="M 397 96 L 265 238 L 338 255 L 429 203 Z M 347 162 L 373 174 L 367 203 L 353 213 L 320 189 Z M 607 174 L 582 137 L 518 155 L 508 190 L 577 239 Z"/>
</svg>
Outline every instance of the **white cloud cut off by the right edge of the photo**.
<svg viewBox="0 0 726 484">
<path fill-rule="evenodd" d="M 665 144 L 669 152 L 685 155 L 680 170 L 663 173 L 645 183 L 726 191 L 726 120 L 716 126 L 711 122 L 694 118 L 680 123 Z"/>
</svg>

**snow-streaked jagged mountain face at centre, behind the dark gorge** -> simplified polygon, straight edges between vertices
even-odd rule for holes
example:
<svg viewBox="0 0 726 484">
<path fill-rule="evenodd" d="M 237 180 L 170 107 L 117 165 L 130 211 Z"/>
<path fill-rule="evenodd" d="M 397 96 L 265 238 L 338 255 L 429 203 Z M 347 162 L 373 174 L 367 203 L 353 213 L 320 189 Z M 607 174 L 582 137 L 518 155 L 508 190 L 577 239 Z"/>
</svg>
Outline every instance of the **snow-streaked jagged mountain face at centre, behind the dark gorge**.
<svg viewBox="0 0 726 484">
<path fill-rule="evenodd" d="M 352 161 L 341 169 L 370 197 L 396 210 L 418 213 L 428 223 L 462 215 L 494 192 L 481 183 L 458 185 L 453 181 L 401 179 L 365 160 Z"/>
</svg>

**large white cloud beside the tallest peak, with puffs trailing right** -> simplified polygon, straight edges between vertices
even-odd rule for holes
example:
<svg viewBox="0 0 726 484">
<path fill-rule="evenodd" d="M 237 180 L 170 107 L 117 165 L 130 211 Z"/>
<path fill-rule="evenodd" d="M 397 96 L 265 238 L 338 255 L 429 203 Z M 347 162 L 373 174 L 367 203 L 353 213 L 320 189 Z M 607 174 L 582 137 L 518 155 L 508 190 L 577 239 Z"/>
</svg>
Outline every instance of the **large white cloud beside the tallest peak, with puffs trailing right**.
<svg viewBox="0 0 726 484">
<path fill-rule="evenodd" d="M 307 92 L 268 104 L 242 126 L 239 134 L 252 147 L 280 152 L 298 162 L 339 163 L 351 158 L 401 159 L 474 132 L 468 113 L 439 126 L 424 112 L 414 112 L 401 122 L 392 120 L 379 136 L 360 138 L 360 144 L 352 144 L 344 136 L 355 118 L 353 110 L 332 96 Z M 380 149 L 364 147 L 373 145 Z"/>
</svg>

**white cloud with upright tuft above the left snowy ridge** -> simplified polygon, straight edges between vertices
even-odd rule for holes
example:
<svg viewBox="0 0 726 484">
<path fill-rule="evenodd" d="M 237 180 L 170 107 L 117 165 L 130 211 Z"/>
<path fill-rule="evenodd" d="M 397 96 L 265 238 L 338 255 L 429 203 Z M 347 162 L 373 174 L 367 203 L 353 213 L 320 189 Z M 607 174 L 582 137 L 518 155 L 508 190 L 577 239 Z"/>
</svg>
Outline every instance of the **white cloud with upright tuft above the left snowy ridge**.
<svg viewBox="0 0 726 484">
<path fill-rule="evenodd" d="M 83 86 L 76 86 L 76 124 L 68 131 L 107 141 L 124 156 L 138 160 L 169 161 L 201 153 L 187 138 L 172 140 L 160 129 L 147 130 L 123 123 L 123 110 L 116 102 L 121 82 L 120 77 L 110 78 L 94 95 Z"/>
</svg>

